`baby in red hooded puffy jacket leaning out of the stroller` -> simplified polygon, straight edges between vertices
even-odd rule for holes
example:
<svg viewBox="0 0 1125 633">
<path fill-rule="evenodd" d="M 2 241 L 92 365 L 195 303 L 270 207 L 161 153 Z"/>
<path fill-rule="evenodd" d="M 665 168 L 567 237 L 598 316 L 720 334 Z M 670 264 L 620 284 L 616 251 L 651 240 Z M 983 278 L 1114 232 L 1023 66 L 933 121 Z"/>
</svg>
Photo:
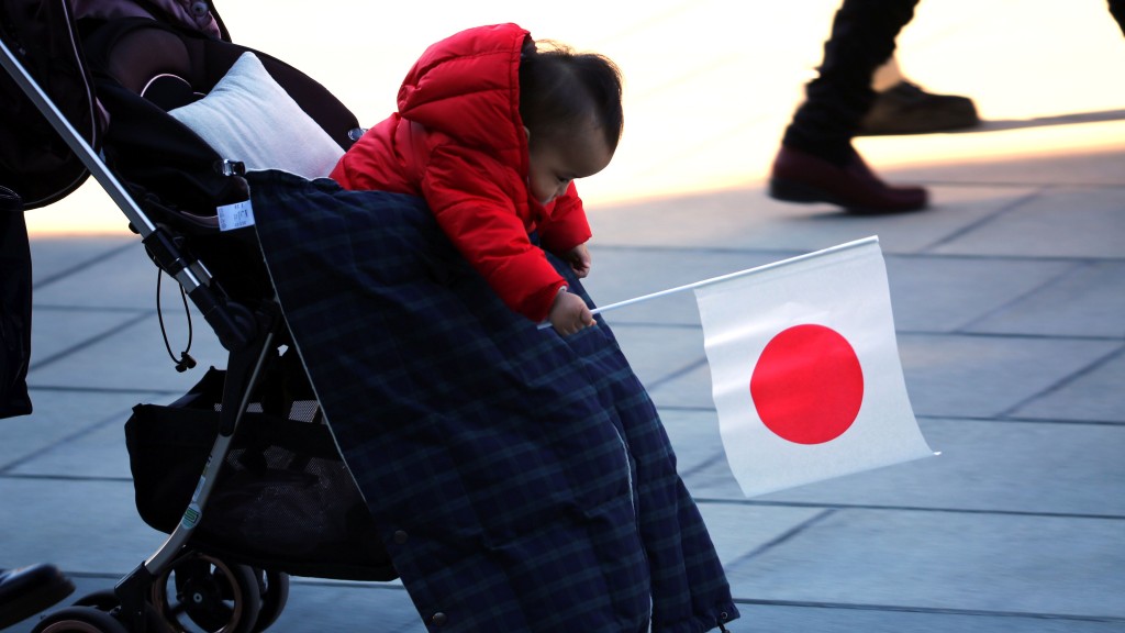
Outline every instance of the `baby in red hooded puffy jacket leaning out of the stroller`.
<svg viewBox="0 0 1125 633">
<path fill-rule="evenodd" d="M 398 90 L 398 112 L 332 178 L 425 198 L 510 309 L 570 335 L 594 318 L 543 249 L 579 278 L 588 274 L 591 230 L 574 181 L 605 169 L 622 125 L 621 74 L 610 60 L 540 50 L 514 24 L 470 28 L 425 51 Z"/>
</svg>

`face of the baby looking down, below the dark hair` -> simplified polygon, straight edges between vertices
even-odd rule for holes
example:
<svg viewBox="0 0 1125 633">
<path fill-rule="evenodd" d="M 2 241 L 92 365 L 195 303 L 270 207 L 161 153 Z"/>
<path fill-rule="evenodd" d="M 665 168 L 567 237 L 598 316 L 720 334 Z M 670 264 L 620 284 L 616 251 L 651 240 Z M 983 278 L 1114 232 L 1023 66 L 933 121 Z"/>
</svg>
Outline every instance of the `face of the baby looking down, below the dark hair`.
<svg viewBox="0 0 1125 633">
<path fill-rule="evenodd" d="M 582 126 L 569 135 L 536 141 L 529 135 L 528 186 L 531 195 L 544 205 L 565 194 L 570 181 L 605 169 L 613 158 L 602 130 L 593 125 Z"/>
</svg>

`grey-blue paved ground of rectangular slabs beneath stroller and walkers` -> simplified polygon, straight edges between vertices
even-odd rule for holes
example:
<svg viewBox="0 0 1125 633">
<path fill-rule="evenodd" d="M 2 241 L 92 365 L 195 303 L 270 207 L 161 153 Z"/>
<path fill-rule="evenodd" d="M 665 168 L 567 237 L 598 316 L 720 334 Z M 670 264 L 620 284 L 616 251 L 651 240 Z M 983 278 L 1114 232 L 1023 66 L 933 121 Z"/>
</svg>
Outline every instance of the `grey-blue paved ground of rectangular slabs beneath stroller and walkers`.
<svg viewBox="0 0 1125 633">
<path fill-rule="evenodd" d="M 690 294 L 609 314 L 658 403 L 742 631 L 1125 631 L 1125 152 L 892 172 L 935 205 L 862 219 L 760 186 L 594 212 L 606 304 L 878 234 L 910 398 L 937 458 L 745 499 Z M 122 425 L 177 374 L 155 268 L 119 237 L 37 239 L 35 413 L 0 442 L 0 567 L 110 587 L 163 536 L 136 515 Z M 187 330 L 165 285 L 172 346 Z M 200 319 L 192 354 L 225 356 Z M 34 621 L 12 631 L 29 631 Z M 294 579 L 279 632 L 421 632 L 395 583 Z"/>
</svg>

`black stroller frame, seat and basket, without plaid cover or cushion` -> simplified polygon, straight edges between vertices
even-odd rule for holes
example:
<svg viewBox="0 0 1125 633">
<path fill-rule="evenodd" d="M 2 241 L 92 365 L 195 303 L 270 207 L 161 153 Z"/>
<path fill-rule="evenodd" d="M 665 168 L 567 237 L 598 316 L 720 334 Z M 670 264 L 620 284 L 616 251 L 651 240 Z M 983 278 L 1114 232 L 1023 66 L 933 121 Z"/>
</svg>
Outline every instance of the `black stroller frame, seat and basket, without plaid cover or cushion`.
<svg viewBox="0 0 1125 633">
<path fill-rule="evenodd" d="M 362 133 L 356 117 L 300 71 L 233 44 L 199 0 L 3 0 L 0 35 L 0 184 L 34 208 L 92 173 L 230 351 L 226 369 L 170 405 L 137 405 L 126 425 L 137 508 L 165 543 L 36 631 L 256 632 L 284 609 L 290 573 L 397 578 L 248 248 L 253 229 L 226 225 L 248 213 L 244 166 L 165 113 L 251 52 L 335 152 Z M 194 364 L 184 351 L 177 369 Z"/>
</svg>

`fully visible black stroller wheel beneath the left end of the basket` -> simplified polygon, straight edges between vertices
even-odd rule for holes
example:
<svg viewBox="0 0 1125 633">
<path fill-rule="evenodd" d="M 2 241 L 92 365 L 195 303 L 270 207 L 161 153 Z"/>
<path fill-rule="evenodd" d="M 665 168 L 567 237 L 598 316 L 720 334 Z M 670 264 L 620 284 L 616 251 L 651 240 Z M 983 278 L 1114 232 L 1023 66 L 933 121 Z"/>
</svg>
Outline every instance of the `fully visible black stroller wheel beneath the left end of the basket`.
<svg viewBox="0 0 1125 633">
<path fill-rule="evenodd" d="M 174 633 L 252 633 L 262 605 L 253 569 L 198 552 L 162 573 L 152 592 Z"/>
</svg>

